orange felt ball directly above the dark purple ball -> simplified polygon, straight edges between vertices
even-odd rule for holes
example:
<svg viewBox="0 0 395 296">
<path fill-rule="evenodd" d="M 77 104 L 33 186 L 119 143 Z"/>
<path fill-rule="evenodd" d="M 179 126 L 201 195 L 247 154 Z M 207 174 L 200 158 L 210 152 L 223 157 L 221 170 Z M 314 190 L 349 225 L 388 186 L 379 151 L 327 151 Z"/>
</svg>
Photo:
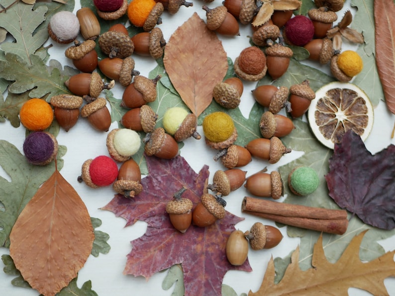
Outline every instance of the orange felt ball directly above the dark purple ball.
<svg viewBox="0 0 395 296">
<path fill-rule="evenodd" d="M 26 101 L 19 111 L 22 125 L 30 131 L 43 131 L 48 128 L 54 113 L 51 105 L 43 99 L 33 98 Z"/>
</svg>

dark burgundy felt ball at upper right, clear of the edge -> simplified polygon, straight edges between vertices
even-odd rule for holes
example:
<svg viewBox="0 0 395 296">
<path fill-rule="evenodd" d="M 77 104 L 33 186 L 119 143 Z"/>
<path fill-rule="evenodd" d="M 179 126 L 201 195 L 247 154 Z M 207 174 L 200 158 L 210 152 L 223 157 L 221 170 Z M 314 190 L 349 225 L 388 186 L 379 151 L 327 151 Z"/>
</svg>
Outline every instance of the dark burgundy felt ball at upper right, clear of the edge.
<svg viewBox="0 0 395 296">
<path fill-rule="evenodd" d="M 304 46 L 314 36 L 314 25 L 304 15 L 296 15 L 285 24 L 285 37 L 293 45 Z"/>
</svg>

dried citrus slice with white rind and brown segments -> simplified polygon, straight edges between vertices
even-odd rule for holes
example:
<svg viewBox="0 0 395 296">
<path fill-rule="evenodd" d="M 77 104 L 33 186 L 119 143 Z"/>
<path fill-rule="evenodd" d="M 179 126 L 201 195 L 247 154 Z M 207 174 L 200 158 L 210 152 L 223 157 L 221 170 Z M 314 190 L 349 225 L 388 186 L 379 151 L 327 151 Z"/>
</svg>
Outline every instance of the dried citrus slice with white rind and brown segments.
<svg viewBox="0 0 395 296">
<path fill-rule="evenodd" d="M 335 81 L 316 91 L 307 118 L 317 140 L 333 149 L 348 130 L 353 130 L 365 141 L 373 128 L 374 111 L 361 88 Z"/>
</svg>

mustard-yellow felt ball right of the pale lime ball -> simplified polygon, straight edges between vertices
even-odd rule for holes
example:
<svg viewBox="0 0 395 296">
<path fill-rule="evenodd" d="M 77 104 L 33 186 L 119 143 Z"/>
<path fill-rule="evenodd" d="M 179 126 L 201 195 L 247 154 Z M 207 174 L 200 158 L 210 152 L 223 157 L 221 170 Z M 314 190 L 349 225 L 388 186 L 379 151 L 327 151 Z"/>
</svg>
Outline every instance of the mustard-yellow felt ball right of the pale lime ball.
<svg viewBox="0 0 395 296">
<path fill-rule="evenodd" d="M 219 143 L 227 140 L 234 131 L 232 118 L 224 112 L 214 112 L 203 120 L 203 133 L 208 141 Z"/>
</svg>

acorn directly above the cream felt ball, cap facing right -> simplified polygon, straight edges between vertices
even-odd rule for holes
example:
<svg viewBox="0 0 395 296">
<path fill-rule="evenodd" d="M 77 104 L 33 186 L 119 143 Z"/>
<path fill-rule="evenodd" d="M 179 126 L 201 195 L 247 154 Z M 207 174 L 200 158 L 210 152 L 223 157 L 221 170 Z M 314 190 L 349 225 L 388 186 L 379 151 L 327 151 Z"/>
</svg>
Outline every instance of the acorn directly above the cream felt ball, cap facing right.
<svg viewBox="0 0 395 296">
<path fill-rule="evenodd" d="M 148 105 L 133 108 L 127 111 L 121 118 L 120 123 L 127 129 L 136 132 L 151 133 L 154 128 L 158 114 Z"/>
</svg>

